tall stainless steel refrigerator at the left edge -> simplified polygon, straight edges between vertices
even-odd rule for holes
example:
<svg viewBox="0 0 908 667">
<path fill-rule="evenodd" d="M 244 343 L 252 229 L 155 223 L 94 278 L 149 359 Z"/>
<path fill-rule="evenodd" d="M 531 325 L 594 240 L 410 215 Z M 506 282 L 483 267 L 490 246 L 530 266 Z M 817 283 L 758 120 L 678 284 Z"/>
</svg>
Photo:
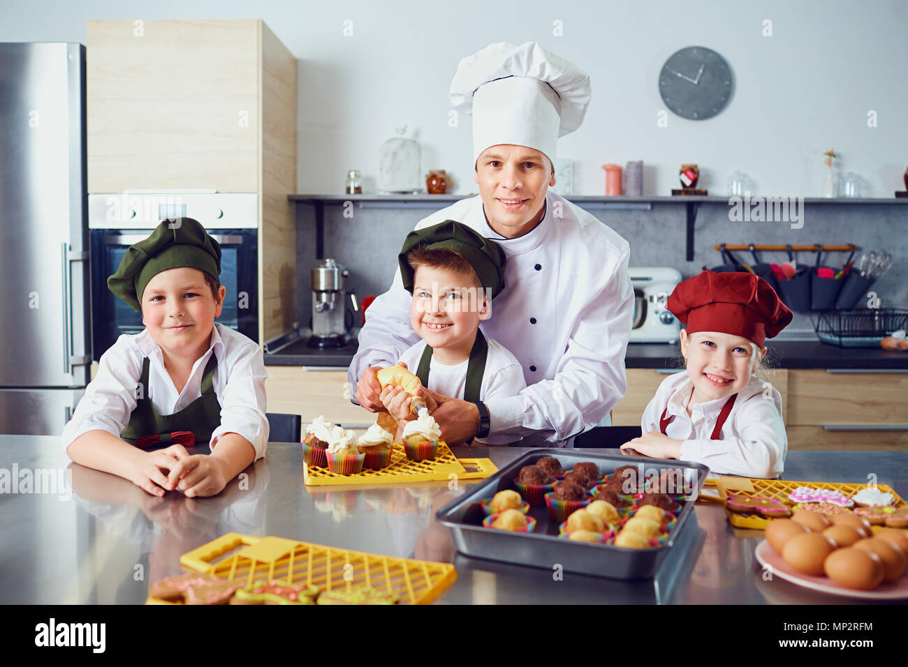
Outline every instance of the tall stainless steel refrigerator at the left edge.
<svg viewBox="0 0 908 667">
<path fill-rule="evenodd" d="M 0 433 L 60 435 L 91 363 L 85 47 L 0 44 Z"/>
</svg>

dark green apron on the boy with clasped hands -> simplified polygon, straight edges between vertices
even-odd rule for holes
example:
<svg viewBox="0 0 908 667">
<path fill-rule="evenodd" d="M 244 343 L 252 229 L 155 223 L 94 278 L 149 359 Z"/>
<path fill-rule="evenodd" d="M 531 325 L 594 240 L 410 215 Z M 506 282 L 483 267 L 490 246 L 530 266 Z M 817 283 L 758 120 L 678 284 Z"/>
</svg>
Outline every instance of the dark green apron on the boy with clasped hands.
<svg viewBox="0 0 908 667">
<path fill-rule="evenodd" d="M 152 399 L 148 396 L 148 365 L 146 357 L 142 362 L 142 377 L 139 378 L 144 395 L 137 400 L 129 424 L 120 437 L 145 449 L 159 445 L 169 446 L 173 442 L 186 445 L 189 434 L 192 434 L 194 444 L 207 446 L 214 429 L 221 426 L 221 403 L 214 393 L 214 369 L 218 366 L 214 352 L 212 351 L 202 376 L 202 396 L 173 415 L 159 415 L 154 410 Z"/>
</svg>

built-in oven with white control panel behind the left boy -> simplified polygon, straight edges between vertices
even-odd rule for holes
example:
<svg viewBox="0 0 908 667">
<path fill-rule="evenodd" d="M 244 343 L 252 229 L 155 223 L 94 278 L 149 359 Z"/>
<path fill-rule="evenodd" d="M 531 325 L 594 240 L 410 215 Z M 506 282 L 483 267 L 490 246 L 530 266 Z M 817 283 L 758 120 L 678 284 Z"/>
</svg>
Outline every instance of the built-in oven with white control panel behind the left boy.
<svg viewBox="0 0 908 667">
<path fill-rule="evenodd" d="M 136 334 L 144 329 L 142 313 L 133 311 L 107 289 L 108 276 L 120 266 L 126 250 L 148 238 L 160 221 L 182 216 L 200 221 L 221 244 L 221 284 L 226 296 L 221 316 L 215 321 L 258 342 L 258 213 L 257 206 L 252 207 L 248 201 L 256 195 L 211 194 L 200 198 L 198 193 L 192 193 L 190 197 L 159 197 L 159 201 L 149 201 L 144 195 L 138 201 L 132 196 L 124 198 L 124 206 L 114 204 L 114 198 L 120 197 L 89 195 L 94 360 L 99 360 L 121 334 Z M 236 197 L 247 199 L 230 201 Z M 187 199 L 195 205 L 187 203 Z M 241 205 L 232 207 L 235 203 Z M 112 206 L 117 211 L 112 212 Z M 251 223 L 245 228 L 231 226 Z"/>
</svg>

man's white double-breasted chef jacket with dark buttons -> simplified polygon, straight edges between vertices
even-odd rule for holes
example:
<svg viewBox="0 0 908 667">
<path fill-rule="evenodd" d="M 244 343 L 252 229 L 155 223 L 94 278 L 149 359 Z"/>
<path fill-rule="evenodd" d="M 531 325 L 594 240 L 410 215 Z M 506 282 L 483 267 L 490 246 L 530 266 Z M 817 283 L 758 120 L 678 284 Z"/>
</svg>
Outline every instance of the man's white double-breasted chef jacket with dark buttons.
<svg viewBox="0 0 908 667">
<path fill-rule="evenodd" d="M 508 257 L 505 289 L 480 324 L 518 359 L 527 388 L 490 400 L 492 436 L 525 446 L 570 446 L 624 396 L 625 353 L 634 316 L 627 241 L 590 213 L 548 191 L 546 213 L 533 230 L 504 239 L 489 227 L 479 196 L 420 221 L 468 225 L 497 241 Z M 356 384 L 370 366 L 390 366 L 419 340 L 410 328 L 410 293 L 400 270 L 370 305 L 360 349 L 350 364 Z"/>
</svg>

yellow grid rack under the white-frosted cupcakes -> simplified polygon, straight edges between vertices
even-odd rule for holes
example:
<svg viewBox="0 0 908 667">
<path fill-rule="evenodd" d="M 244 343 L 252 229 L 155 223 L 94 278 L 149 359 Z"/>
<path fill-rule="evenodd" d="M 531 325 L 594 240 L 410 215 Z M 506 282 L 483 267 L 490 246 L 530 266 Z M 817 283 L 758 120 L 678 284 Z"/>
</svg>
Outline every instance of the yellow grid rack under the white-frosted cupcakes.
<svg viewBox="0 0 908 667">
<path fill-rule="evenodd" d="M 468 470 L 464 465 L 469 466 Z M 458 479 L 485 479 L 498 472 L 489 458 L 458 458 L 448 446 L 439 442 L 435 458 L 429 461 L 410 461 L 403 445 L 394 445 L 390 466 L 381 470 L 363 468 L 356 475 L 337 475 L 326 467 L 303 464 L 302 478 L 306 486 L 404 484 L 407 482 L 447 482 Z"/>
</svg>

